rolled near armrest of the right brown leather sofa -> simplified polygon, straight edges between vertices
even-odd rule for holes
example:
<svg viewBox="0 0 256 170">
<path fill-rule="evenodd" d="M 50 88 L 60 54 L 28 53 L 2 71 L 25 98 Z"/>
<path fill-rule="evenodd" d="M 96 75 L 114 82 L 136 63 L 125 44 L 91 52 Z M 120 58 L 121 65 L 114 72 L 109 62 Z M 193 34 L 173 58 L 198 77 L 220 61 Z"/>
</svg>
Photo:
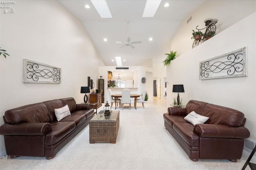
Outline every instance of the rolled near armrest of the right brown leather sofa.
<svg viewBox="0 0 256 170">
<path fill-rule="evenodd" d="M 246 127 L 233 127 L 219 124 L 196 124 L 194 126 L 194 133 L 199 137 L 206 138 L 246 139 L 250 137 L 250 131 Z"/>
</svg>

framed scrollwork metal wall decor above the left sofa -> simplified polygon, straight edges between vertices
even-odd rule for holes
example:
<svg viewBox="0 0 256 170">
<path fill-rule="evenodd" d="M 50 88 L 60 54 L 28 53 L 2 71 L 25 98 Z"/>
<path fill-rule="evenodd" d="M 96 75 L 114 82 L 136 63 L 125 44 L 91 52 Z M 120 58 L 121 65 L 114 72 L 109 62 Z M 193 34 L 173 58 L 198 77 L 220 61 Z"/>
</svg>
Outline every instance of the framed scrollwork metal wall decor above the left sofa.
<svg viewBox="0 0 256 170">
<path fill-rule="evenodd" d="M 61 68 L 23 59 L 24 83 L 61 83 Z"/>
</svg>

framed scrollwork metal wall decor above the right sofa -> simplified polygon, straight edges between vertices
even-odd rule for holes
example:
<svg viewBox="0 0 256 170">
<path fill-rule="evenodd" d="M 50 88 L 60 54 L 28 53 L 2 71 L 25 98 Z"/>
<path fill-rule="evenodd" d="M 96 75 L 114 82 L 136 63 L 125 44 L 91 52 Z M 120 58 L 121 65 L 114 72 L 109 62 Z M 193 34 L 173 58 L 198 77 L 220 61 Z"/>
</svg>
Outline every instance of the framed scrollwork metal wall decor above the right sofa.
<svg viewBox="0 0 256 170">
<path fill-rule="evenodd" d="M 200 80 L 247 76 L 247 47 L 200 62 Z"/>
</svg>

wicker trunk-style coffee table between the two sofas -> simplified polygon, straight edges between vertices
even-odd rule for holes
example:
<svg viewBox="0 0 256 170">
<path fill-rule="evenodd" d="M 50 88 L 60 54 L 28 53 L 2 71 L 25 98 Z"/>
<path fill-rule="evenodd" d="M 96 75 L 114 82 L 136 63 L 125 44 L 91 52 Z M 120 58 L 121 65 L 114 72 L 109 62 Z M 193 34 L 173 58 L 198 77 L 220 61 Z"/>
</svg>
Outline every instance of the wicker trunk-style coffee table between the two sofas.
<svg viewBox="0 0 256 170">
<path fill-rule="evenodd" d="M 90 143 L 110 142 L 116 143 L 116 137 L 119 129 L 119 111 L 110 111 L 111 115 L 105 116 L 104 111 L 90 120 Z"/>
</svg>

